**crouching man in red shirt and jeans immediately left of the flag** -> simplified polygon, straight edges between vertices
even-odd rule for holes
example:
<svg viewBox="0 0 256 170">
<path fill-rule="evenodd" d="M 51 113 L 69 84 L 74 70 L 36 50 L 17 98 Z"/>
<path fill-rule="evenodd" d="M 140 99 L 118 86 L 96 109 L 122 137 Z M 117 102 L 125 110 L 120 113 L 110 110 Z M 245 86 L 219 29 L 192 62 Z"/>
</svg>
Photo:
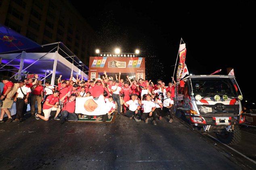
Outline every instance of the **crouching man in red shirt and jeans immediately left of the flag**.
<svg viewBox="0 0 256 170">
<path fill-rule="evenodd" d="M 69 94 L 67 93 L 63 96 L 60 101 L 63 102 L 63 109 L 61 112 L 61 125 L 63 125 L 64 121 L 78 121 L 78 117 L 76 116 L 76 94 L 72 93 L 69 98 L 67 97 Z"/>
</svg>

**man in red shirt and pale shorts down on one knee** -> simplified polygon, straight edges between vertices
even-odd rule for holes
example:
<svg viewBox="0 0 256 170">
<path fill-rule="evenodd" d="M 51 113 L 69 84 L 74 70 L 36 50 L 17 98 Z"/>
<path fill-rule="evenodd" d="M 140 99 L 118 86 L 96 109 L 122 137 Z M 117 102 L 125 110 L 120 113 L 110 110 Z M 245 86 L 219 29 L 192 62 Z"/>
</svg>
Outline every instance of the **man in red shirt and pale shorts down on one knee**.
<svg viewBox="0 0 256 170">
<path fill-rule="evenodd" d="M 59 106 L 59 90 L 55 90 L 53 92 L 53 94 L 51 94 L 50 96 L 48 96 L 44 102 L 43 105 L 43 112 L 44 112 L 44 116 L 39 115 L 38 113 L 35 114 L 36 119 L 43 119 L 44 121 L 48 121 L 49 117 L 50 117 L 50 112 L 51 111 L 57 111 L 54 119 L 59 120 L 59 118 L 57 117 L 59 115 L 60 110 L 60 106 Z"/>
</svg>

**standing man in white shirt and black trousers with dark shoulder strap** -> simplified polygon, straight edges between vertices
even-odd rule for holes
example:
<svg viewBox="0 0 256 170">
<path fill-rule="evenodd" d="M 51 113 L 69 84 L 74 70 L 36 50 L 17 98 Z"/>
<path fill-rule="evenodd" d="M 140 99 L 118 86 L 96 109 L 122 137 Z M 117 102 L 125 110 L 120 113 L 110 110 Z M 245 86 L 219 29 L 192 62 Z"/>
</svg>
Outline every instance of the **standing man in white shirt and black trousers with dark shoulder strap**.
<svg viewBox="0 0 256 170">
<path fill-rule="evenodd" d="M 29 96 L 29 93 L 31 93 L 31 89 L 29 86 L 25 85 L 24 80 L 19 80 L 19 88 L 17 90 L 16 96 L 14 98 L 14 101 L 16 102 L 16 117 L 13 122 L 20 122 L 21 119 L 24 117 L 24 105 L 27 104 L 27 98 Z"/>
</svg>

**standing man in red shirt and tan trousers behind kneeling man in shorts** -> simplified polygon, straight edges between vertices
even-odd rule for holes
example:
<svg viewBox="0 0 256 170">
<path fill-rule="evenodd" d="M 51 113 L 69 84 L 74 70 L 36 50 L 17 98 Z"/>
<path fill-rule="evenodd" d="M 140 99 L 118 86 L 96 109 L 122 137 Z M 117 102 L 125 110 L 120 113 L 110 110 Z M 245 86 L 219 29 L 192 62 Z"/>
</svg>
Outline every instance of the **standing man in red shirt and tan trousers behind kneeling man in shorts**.
<svg viewBox="0 0 256 170">
<path fill-rule="evenodd" d="M 34 115 L 35 112 L 35 105 L 37 102 L 37 107 L 38 107 L 38 114 L 41 115 L 42 112 L 42 106 L 41 106 L 41 102 L 42 100 L 44 100 L 44 87 L 41 86 L 42 81 L 41 80 L 37 80 L 37 84 L 36 84 L 36 88 L 34 89 L 34 92 L 31 95 L 31 115 Z"/>
</svg>

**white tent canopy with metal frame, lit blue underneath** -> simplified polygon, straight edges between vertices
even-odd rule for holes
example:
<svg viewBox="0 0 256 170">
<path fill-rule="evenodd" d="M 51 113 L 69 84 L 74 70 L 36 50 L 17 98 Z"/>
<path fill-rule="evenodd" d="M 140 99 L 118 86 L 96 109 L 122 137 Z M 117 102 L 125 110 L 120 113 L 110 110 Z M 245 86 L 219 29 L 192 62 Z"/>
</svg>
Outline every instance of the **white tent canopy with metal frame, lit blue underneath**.
<svg viewBox="0 0 256 170">
<path fill-rule="evenodd" d="M 88 79 L 88 67 L 76 57 L 63 43 L 53 43 L 42 45 L 42 48 L 36 48 L 26 51 L 15 51 L 14 53 L 0 54 L 2 64 L 0 71 L 6 70 L 5 66 L 13 66 L 19 69 L 15 74 L 17 79 L 21 79 L 22 72 L 27 71 L 32 74 L 38 74 L 41 77 L 47 77 L 52 74 L 51 84 L 54 85 L 55 76 L 69 79 L 71 74 L 76 77 L 78 74 L 84 79 Z M 11 70 L 10 70 L 11 71 Z M 12 71 L 13 72 L 13 71 Z M 43 79 L 44 80 L 44 79 Z"/>
</svg>

